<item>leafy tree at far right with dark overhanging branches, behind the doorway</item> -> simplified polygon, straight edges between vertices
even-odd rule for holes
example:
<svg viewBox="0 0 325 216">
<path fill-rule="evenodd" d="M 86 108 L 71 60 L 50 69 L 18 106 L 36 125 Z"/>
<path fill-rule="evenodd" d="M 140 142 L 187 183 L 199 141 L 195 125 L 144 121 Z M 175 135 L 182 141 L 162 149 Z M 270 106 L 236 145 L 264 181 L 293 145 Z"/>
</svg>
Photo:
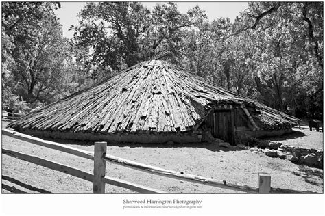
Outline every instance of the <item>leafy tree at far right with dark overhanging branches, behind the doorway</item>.
<svg viewBox="0 0 325 216">
<path fill-rule="evenodd" d="M 322 74 L 323 3 L 254 2 L 241 23 L 255 42 L 254 80 L 263 103 L 295 108 L 298 90 L 306 92 L 311 77 Z"/>
</svg>

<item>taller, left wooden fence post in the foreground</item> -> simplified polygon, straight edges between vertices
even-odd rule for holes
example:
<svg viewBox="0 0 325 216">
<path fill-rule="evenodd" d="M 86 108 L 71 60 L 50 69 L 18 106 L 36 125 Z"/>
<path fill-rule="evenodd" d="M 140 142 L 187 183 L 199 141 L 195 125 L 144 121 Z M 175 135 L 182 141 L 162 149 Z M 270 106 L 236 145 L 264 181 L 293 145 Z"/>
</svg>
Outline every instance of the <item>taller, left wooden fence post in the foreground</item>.
<svg viewBox="0 0 325 216">
<path fill-rule="evenodd" d="M 106 154 L 107 143 L 106 141 L 95 142 L 94 147 L 94 193 L 105 193 L 105 183 L 101 178 L 105 176 L 106 161 L 103 159 L 103 154 Z"/>
</svg>

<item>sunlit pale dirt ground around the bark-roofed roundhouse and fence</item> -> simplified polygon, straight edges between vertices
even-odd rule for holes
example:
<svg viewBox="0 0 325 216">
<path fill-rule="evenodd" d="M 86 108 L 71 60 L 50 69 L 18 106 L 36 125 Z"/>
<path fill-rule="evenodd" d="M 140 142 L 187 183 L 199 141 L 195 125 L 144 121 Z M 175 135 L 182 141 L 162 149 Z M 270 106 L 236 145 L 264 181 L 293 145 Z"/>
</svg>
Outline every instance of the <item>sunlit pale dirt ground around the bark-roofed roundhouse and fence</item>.
<svg viewBox="0 0 325 216">
<path fill-rule="evenodd" d="M 2 123 L 3 127 L 8 124 L 8 122 Z M 272 139 L 279 139 L 283 143 L 291 145 L 323 148 L 323 133 L 295 129 L 293 135 L 288 136 L 286 139 L 285 137 Z M 91 142 L 55 141 L 93 151 Z M 93 172 L 93 161 L 91 160 L 29 144 L 8 136 L 2 136 L 2 147 L 77 167 L 86 172 Z M 228 148 L 217 148 L 211 144 L 110 144 L 108 154 L 168 170 L 254 187 L 257 187 L 258 172 L 267 172 L 272 176 L 271 187 L 318 193 L 323 193 L 324 188 L 323 170 L 296 165 L 288 160 L 267 157 L 261 152 L 252 153 L 250 150 L 229 150 Z M 106 175 L 168 193 L 241 193 L 155 176 L 110 163 L 106 166 Z M 11 193 L 12 187 L 15 188 L 15 193 L 93 193 L 91 182 L 2 155 L 1 191 L 2 193 Z M 106 193 L 135 192 L 106 185 Z"/>
</svg>

